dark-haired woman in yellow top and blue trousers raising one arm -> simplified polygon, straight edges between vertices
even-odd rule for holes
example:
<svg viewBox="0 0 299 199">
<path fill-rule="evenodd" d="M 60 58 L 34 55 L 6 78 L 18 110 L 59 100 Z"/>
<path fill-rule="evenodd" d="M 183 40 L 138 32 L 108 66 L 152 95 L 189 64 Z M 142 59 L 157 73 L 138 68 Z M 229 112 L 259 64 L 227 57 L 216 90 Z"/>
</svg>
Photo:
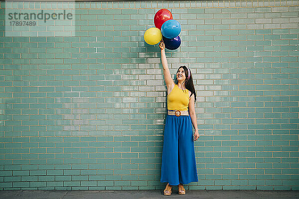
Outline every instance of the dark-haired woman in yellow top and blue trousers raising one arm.
<svg viewBox="0 0 299 199">
<path fill-rule="evenodd" d="M 173 185 L 178 186 L 179 195 L 184 195 L 186 193 L 183 184 L 198 182 L 192 133 L 193 124 L 194 140 L 197 140 L 199 134 L 194 108 L 196 93 L 191 72 L 185 66 L 178 68 L 174 83 L 168 69 L 163 41 L 159 43 L 159 47 L 167 87 L 168 109 L 160 182 L 167 183 L 164 195 L 171 195 Z"/>
</svg>

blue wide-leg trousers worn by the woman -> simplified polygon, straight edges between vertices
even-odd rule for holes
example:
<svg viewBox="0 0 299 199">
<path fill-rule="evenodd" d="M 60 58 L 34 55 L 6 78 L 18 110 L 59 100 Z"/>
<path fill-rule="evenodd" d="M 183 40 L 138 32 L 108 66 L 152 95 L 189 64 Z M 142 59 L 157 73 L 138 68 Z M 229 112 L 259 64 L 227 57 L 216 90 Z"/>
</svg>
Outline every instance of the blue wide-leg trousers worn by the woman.
<svg viewBox="0 0 299 199">
<path fill-rule="evenodd" d="M 166 117 L 160 182 L 169 185 L 198 182 L 189 115 Z"/>
</svg>

